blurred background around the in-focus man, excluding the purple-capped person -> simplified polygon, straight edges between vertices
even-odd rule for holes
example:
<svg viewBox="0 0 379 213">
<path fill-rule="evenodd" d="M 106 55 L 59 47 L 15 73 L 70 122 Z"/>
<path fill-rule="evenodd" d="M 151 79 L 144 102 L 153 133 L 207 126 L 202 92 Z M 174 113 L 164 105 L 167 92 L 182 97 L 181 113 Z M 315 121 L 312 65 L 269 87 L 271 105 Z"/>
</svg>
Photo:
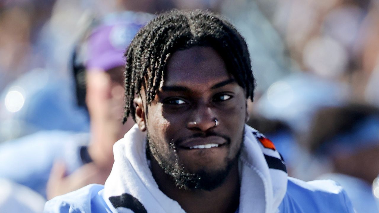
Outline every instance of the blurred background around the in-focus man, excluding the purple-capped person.
<svg viewBox="0 0 379 213">
<path fill-rule="evenodd" d="M 83 33 L 107 14 L 172 8 L 215 11 L 244 36 L 257 79 L 248 124 L 274 142 L 291 176 L 335 179 L 357 212 L 378 211 L 377 0 L 2 0 L 0 145 L 88 133 L 72 67 Z"/>
</svg>

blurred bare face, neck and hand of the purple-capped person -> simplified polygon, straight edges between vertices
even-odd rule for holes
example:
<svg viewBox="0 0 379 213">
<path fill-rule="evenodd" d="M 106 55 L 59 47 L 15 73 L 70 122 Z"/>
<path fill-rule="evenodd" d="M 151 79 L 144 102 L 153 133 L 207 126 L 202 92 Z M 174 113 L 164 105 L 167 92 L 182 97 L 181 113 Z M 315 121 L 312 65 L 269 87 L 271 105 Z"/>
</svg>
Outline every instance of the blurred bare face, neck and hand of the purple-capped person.
<svg viewBox="0 0 379 213">
<path fill-rule="evenodd" d="M 91 117 L 88 153 L 93 162 L 67 175 L 67 165 L 56 162 L 47 183 L 47 197 L 77 190 L 91 183 L 104 184 L 113 166 L 113 144 L 133 126 L 132 119 L 122 125 L 124 105 L 123 67 L 86 72 L 86 103 Z"/>
</svg>

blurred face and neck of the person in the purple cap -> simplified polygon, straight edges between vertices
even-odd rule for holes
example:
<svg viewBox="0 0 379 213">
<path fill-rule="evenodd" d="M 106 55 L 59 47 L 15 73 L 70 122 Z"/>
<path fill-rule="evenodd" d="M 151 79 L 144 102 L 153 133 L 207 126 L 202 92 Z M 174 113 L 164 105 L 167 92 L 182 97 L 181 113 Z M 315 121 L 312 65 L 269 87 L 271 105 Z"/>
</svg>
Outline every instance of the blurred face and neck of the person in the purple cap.
<svg viewBox="0 0 379 213">
<path fill-rule="evenodd" d="M 133 126 L 132 119 L 122 125 L 124 110 L 123 67 L 86 72 L 88 106 L 91 126 L 89 154 L 96 164 L 111 168 L 113 144 Z"/>
</svg>

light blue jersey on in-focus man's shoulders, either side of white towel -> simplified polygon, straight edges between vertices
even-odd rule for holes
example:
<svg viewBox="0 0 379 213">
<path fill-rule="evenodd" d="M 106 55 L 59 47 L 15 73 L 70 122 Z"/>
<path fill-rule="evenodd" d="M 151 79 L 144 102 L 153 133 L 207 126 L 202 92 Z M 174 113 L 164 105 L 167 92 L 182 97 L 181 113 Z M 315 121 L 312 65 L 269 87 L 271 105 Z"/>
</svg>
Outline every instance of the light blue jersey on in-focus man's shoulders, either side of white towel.
<svg viewBox="0 0 379 213">
<path fill-rule="evenodd" d="M 77 191 L 55 197 L 45 205 L 44 213 L 110 213 L 109 200 L 103 199 L 104 186 L 91 184 Z M 127 212 L 127 211 L 126 211 Z M 252 210 L 252 212 L 254 212 Z M 287 193 L 279 206 L 280 213 L 354 213 L 341 186 L 332 180 L 304 182 L 288 178 Z M 138 212 L 135 212 L 138 213 Z"/>
</svg>

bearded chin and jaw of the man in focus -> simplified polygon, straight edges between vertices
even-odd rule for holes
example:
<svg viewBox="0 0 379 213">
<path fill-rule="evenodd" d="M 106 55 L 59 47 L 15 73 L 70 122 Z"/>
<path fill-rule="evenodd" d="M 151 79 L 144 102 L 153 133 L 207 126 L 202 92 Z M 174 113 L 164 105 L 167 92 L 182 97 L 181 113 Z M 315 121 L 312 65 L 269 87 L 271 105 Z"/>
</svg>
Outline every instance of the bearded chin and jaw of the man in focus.
<svg viewBox="0 0 379 213">
<path fill-rule="evenodd" d="M 211 191 L 221 186 L 233 166 L 237 166 L 241 146 L 230 157 L 230 146 L 183 149 L 171 146 L 168 152 L 155 146 L 148 134 L 149 152 L 175 184 L 184 190 Z M 162 153 L 166 153 L 163 155 Z"/>
</svg>

